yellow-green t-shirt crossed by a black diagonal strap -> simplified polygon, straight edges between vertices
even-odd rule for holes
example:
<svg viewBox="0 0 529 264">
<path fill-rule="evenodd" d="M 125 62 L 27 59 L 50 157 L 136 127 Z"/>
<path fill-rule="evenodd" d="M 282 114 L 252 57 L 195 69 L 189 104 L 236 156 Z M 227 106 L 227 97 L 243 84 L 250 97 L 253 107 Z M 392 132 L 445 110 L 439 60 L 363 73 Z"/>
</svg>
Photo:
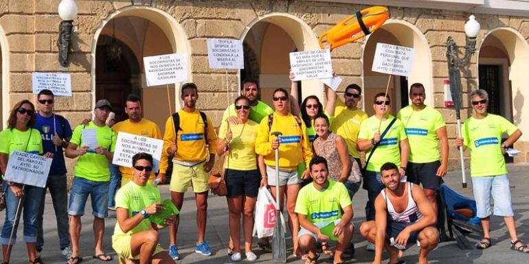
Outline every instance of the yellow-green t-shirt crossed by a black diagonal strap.
<svg viewBox="0 0 529 264">
<path fill-rule="evenodd" d="M 392 115 L 389 115 L 385 121 L 382 122 L 380 127 L 380 134 L 384 132 L 387 125 L 390 125 Z M 358 134 L 359 139 L 371 140 L 374 136 L 374 133 L 379 131 L 380 119 L 377 119 L 376 116 L 372 116 L 368 119 L 365 119 L 360 125 L 360 132 Z M 401 166 L 401 147 L 400 143 L 404 139 L 407 139 L 406 132 L 404 131 L 404 126 L 401 121 L 398 119 L 393 123 L 390 130 L 385 134 L 384 138 L 379 143 L 379 147 L 376 147 L 376 150 L 373 153 L 373 156 L 369 160 L 368 171 L 380 172 L 380 167 L 384 163 L 394 163 L 397 167 Z M 365 153 L 365 158 L 367 159 L 371 153 L 371 149 Z"/>
</svg>

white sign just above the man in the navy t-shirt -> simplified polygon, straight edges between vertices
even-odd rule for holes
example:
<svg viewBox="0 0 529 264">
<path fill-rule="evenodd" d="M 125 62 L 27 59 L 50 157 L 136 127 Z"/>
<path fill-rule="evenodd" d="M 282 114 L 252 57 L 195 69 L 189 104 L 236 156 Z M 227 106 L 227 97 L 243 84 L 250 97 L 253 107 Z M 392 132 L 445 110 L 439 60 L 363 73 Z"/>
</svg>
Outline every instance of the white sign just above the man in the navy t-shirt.
<svg viewBox="0 0 529 264">
<path fill-rule="evenodd" d="M 69 73 L 32 73 L 33 94 L 44 89 L 54 93 L 54 96 L 71 97 L 71 77 Z"/>
</svg>

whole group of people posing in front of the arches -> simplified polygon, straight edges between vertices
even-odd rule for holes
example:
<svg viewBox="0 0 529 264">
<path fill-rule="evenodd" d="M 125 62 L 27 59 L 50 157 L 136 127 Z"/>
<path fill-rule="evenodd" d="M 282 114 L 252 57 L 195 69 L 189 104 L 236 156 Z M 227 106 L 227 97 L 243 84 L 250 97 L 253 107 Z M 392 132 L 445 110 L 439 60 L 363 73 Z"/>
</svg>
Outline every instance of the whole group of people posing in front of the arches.
<svg viewBox="0 0 529 264">
<path fill-rule="evenodd" d="M 210 117 L 196 108 L 199 88 L 196 84 L 186 83 L 181 87 L 183 108 L 168 117 L 163 138 L 155 123 L 142 118 L 142 105 L 136 95 L 126 99 L 124 110 L 128 119 L 125 121 L 109 128 L 105 121 L 112 106 L 102 99 L 95 104 L 93 120 L 78 125 L 72 132 L 69 124 L 64 125 L 65 120 L 56 121 L 63 117 L 55 118 L 50 113 L 51 108 L 48 108 L 54 103 L 54 98 L 53 94 L 45 92 L 38 95 L 41 112 L 36 113 L 33 104 L 27 100 L 13 108 L 8 129 L 0 133 L 0 169 L 5 173 L 8 157 L 14 150 L 45 154 L 55 160 L 62 156 L 64 149 L 67 158 L 78 158 L 67 209 L 70 216 L 67 243 L 71 240 L 71 252 L 68 245 L 63 246 L 61 239 L 61 254 L 69 264 L 82 261 L 80 219 L 85 213 L 88 196 L 91 196 L 94 216 L 93 257 L 101 261 L 111 260 L 111 256 L 102 250 L 102 239 L 104 218 L 108 215 L 107 204 L 109 199 L 113 199 L 108 195 L 109 164 L 112 163 L 119 132 L 164 139 L 157 174 L 153 171 L 153 157 L 144 153 L 133 157 L 132 167 L 120 167 L 122 187 L 115 195 L 117 223 L 112 240 L 113 249 L 122 259 L 137 259 L 139 263 L 171 263 L 180 259 L 177 248 L 179 215 L 169 217 L 163 224 L 154 224 L 149 220 L 150 215 L 164 210 L 155 185 L 165 182 L 170 163 L 171 200 L 180 210 L 184 193 L 192 186 L 198 230 L 195 252 L 205 256 L 212 254 L 205 241 L 210 189 L 207 181 L 216 156 L 223 156 L 229 208 L 227 253 L 232 261 L 243 259 L 241 215 L 245 259 L 258 259 L 252 251 L 254 208 L 259 189 L 270 187 L 274 198 L 275 189 L 279 188 L 281 209 L 286 204 L 293 255 L 305 259 L 307 264 L 316 264 L 319 254 L 315 248 L 319 245 L 324 254 L 333 255 L 334 263 L 343 263 L 344 252 L 354 254 L 351 243 L 354 230 L 352 197 L 359 187 L 363 187 L 368 191 L 368 203 L 365 206 L 366 221 L 360 227 L 360 233 L 370 241 L 368 250 L 375 251 L 374 263 L 381 263 L 385 245 L 390 245 L 386 247 L 390 252 L 390 263 L 401 263 L 403 250 L 409 241 L 418 241 L 421 247 L 419 261 L 427 263 L 428 252 L 438 242 L 432 239 L 438 236 L 436 228 L 432 228 L 437 208 L 435 193 L 447 174 L 449 145 L 443 117 L 438 110 L 424 104 L 425 88 L 422 84 L 412 84 L 409 89 L 412 103 L 401 109 L 396 117 L 390 115 L 390 97 L 384 93 L 374 96 L 372 107 L 375 114 L 368 117 L 358 108 L 361 92 L 357 84 L 350 84 L 342 101 L 327 88 L 325 109 L 314 96 L 306 97 L 301 105 L 297 105 L 297 83 L 292 81 L 290 93 L 283 88 L 273 92 L 271 108 L 258 100 L 258 82 L 244 80 L 241 95 L 224 112 L 217 136 Z M 492 244 L 488 233 L 492 196 L 495 199 L 495 215 L 503 216 L 508 226 L 511 248 L 528 252 L 529 248 L 516 235 L 507 170 L 502 156 L 521 132 L 506 119 L 487 114 L 488 95 L 485 91 L 473 91 L 471 100 L 475 115 L 465 122 L 462 139 L 457 139 L 456 144 L 471 151 L 477 215 L 483 219 L 484 226 L 484 237 L 477 248 L 485 249 Z M 44 123 L 34 131 L 32 127 L 37 117 L 54 117 L 54 130 L 50 132 L 51 126 Z M 58 133 L 56 127 L 69 130 L 69 133 Z M 95 130 L 97 147 L 89 147 L 82 142 L 86 130 Z M 42 134 L 43 141 L 33 142 L 32 133 Z M 45 136 L 45 133 L 51 134 Z M 502 134 L 509 135 L 503 143 Z M 49 140 L 49 146 L 43 148 L 45 139 Z M 52 147 L 58 147 L 60 152 L 48 151 Z M 361 152 L 365 153 L 364 166 Z M 277 177 L 276 158 L 279 167 Z M 64 158 L 58 163 L 64 164 Z M 60 170 L 60 173 L 64 174 L 65 170 Z M 48 188 L 52 191 L 51 186 Z M 35 190 L 21 188 L 15 182 L 4 182 L 4 189 L 8 213 L 1 241 L 3 245 L 8 245 L 14 243 L 9 239 L 9 233 L 16 228 L 13 226 L 13 204 L 24 197 L 24 191 L 27 194 Z M 43 190 L 36 191 L 40 191 L 36 196 L 43 195 Z M 60 204 L 54 202 L 56 212 Z M 26 199 L 24 206 L 34 208 L 34 211 L 41 211 L 42 208 L 32 199 Z M 35 215 L 38 216 L 38 212 Z M 36 221 L 27 221 L 24 239 L 30 262 L 42 263 L 35 254 L 38 252 Z M 157 229 L 166 226 L 170 229 L 168 252 L 157 245 Z M 330 249 L 328 240 L 338 241 L 335 251 Z M 271 250 L 267 238 L 260 239 L 258 246 Z M 9 254 L 10 250 L 4 250 L 4 263 L 9 261 Z"/>
</svg>

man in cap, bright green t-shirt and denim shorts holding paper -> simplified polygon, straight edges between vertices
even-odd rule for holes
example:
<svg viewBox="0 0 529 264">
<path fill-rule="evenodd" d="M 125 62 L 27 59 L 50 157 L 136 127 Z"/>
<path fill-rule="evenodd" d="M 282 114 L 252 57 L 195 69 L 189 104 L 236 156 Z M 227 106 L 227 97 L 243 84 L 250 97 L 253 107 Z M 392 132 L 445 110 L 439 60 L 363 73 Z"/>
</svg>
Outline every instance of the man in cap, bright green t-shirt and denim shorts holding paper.
<svg viewBox="0 0 529 264">
<path fill-rule="evenodd" d="M 80 262 L 79 237 L 81 232 L 81 216 L 85 215 L 85 204 L 91 195 L 93 214 L 93 232 L 95 235 L 94 257 L 102 261 L 110 261 L 112 257 L 103 252 L 104 217 L 108 216 L 109 200 L 109 163 L 112 162 L 116 134 L 105 121 L 111 112 L 111 104 L 105 99 L 95 103 L 94 118 L 88 125 L 78 125 L 71 136 L 65 150 L 68 158 L 77 158 L 74 181 L 71 183 L 68 214 L 70 218 L 71 257 L 68 263 Z M 90 131 L 91 130 L 91 131 Z M 85 145 L 92 139 L 95 130 L 97 146 Z M 86 133 L 86 136 L 83 134 Z M 92 142 L 90 142 L 92 143 Z"/>
</svg>

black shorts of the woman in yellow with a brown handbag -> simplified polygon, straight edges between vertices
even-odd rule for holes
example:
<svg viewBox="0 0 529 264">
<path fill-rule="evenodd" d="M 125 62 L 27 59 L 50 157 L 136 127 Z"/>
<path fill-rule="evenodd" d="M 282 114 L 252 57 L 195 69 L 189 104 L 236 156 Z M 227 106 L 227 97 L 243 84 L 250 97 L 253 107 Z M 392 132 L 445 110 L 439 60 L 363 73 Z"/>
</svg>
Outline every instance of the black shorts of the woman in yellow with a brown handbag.
<svg viewBox="0 0 529 264">
<path fill-rule="evenodd" d="M 261 177 L 258 169 L 251 171 L 239 171 L 236 169 L 226 169 L 224 180 L 228 189 L 228 197 L 246 195 L 257 197 Z"/>
</svg>

